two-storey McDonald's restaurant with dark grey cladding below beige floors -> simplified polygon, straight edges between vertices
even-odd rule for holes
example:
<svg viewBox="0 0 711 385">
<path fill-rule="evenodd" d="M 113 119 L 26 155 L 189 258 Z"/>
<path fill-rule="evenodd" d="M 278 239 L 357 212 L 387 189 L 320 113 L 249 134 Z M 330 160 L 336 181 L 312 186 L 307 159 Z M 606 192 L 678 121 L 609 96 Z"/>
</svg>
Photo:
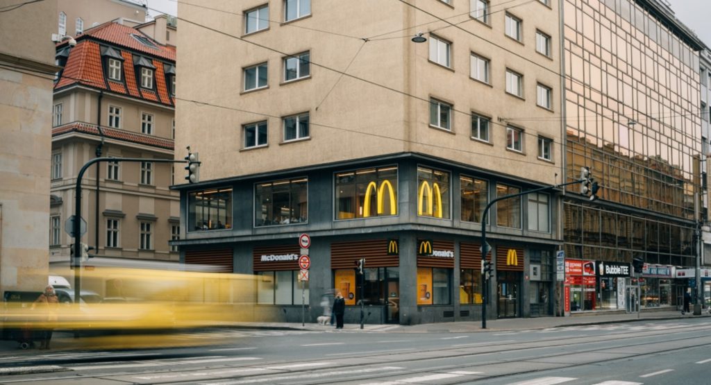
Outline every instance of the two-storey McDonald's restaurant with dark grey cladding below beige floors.
<svg viewBox="0 0 711 385">
<path fill-rule="evenodd" d="M 361 303 L 365 323 L 475 321 L 483 209 L 538 187 L 416 153 L 208 181 L 179 186 L 186 225 L 171 244 L 185 264 L 256 276 L 255 321 L 301 322 L 303 303 L 316 322 L 336 292 L 346 322 L 360 322 Z M 554 314 L 557 199 L 523 195 L 489 211 L 488 318 Z"/>
</svg>

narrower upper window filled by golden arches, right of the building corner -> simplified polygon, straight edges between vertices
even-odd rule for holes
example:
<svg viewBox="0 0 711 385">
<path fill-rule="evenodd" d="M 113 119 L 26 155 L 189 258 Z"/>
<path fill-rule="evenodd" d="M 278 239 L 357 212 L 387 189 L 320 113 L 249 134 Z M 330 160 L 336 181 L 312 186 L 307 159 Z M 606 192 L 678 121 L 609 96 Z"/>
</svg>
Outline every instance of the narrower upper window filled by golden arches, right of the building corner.
<svg viewBox="0 0 711 385">
<path fill-rule="evenodd" d="M 417 168 L 417 215 L 449 219 L 449 173 Z"/>
</svg>

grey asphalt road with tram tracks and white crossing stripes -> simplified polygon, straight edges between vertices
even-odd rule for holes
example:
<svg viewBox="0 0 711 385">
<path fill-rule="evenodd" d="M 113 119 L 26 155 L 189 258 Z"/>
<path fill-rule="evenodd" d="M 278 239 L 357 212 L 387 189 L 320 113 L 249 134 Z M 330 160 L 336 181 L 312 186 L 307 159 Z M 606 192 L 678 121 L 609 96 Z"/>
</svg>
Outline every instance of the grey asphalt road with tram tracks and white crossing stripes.
<svg viewBox="0 0 711 385">
<path fill-rule="evenodd" d="M 176 336 L 174 336 L 176 337 Z M 206 345 L 3 357 L 1 384 L 709 384 L 711 320 L 510 332 L 211 330 Z M 35 371 L 34 373 L 24 372 Z"/>
</svg>

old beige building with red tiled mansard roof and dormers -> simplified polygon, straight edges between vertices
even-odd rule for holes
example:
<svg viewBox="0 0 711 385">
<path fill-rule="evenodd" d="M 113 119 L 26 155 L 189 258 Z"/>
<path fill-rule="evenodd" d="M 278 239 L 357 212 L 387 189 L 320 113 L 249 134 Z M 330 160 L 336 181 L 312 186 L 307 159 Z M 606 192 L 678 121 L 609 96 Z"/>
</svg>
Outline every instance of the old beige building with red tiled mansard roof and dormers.
<svg viewBox="0 0 711 385">
<path fill-rule="evenodd" d="M 171 192 L 176 50 L 115 22 L 90 28 L 74 47 L 57 46 L 51 148 L 50 262 L 68 264 L 73 242 L 63 231 L 75 212 L 82 178 L 82 242 L 107 258 L 177 261 L 178 194 Z"/>
</svg>

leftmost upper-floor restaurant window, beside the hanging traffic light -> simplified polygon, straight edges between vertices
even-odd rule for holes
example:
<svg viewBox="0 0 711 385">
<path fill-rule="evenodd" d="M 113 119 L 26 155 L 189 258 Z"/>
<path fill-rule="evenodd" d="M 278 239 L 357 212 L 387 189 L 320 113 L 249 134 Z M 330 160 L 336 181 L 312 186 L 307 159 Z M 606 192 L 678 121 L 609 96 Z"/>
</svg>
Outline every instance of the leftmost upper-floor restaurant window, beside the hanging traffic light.
<svg viewBox="0 0 711 385">
<path fill-rule="evenodd" d="M 188 193 L 188 231 L 232 228 L 232 188 Z"/>
</svg>

